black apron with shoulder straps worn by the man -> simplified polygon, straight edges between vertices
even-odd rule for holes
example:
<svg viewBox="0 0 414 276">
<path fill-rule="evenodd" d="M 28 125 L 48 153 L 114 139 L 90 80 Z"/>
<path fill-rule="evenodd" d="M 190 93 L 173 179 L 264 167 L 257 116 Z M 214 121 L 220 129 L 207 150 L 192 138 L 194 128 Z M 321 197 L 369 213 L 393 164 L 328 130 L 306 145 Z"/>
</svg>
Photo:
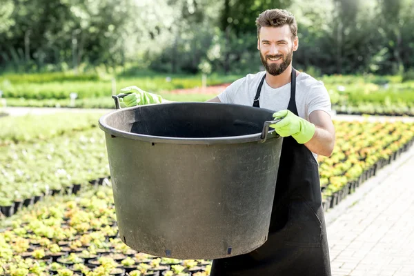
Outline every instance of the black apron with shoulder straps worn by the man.
<svg viewBox="0 0 414 276">
<path fill-rule="evenodd" d="M 266 74 L 257 88 L 253 106 Z M 288 110 L 297 114 L 292 68 Z M 213 260 L 210 276 L 331 276 L 319 170 L 312 152 L 284 137 L 268 240 L 244 255 Z"/>
</svg>

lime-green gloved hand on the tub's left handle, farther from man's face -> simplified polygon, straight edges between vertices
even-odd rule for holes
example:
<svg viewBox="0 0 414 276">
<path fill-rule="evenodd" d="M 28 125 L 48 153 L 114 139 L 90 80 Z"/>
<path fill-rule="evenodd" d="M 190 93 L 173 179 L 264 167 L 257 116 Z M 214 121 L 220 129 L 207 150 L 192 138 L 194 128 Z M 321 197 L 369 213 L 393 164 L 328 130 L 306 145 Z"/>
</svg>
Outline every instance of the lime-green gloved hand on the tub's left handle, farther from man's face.
<svg viewBox="0 0 414 276">
<path fill-rule="evenodd" d="M 121 92 L 130 94 L 124 98 L 119 99 L 119 105 L 121 108 L 131 106 L 141 106 L 150 103 L 161 103 L 162 97 L 159 95 L 146 92 L 137 86 L 129 86 L 121 89 Z"/>
</svg>

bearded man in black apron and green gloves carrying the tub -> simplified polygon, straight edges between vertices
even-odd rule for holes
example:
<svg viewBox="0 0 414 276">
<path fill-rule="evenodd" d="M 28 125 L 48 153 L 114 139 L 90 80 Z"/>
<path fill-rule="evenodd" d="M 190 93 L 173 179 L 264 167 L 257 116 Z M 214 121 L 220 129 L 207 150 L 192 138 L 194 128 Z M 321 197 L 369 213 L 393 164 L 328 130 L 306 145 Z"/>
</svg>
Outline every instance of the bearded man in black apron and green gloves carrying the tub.
<svg viewBox="0 0 414 276">
<path fill-rule="evenodd" d="M 335 129 L 331 101 L 321 81 L 292 67 L 297 23 L 286 10 L 266 10 L 256 20 L 257 49 L 265 72 L 232 83 L 210 102 L 279 110 L 271 125 L 285 137 L 266 243 L 248 254 L 215 259 L 212 276 L 331 275 L 322 210 L 317 155 L 330 156 Z M 161 97 L 136 87 L 124 106 L 159 103 Z"/>
</svg>

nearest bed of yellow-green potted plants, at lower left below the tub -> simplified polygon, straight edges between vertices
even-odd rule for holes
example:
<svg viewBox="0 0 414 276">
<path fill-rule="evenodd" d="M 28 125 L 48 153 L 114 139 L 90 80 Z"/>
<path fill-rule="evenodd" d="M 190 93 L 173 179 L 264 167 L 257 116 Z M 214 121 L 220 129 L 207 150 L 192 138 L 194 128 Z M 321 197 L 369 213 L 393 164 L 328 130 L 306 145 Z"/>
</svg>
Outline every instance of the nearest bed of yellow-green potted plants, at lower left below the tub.
<svg viewBox="0 0 414 276">
<path fill-rule="evenodd" d="M 48 197 L 0 233 L 0 275 L 206 276 L 210 260 L 139 253 L 119 238 L 112 188 Z"/>
</svg>

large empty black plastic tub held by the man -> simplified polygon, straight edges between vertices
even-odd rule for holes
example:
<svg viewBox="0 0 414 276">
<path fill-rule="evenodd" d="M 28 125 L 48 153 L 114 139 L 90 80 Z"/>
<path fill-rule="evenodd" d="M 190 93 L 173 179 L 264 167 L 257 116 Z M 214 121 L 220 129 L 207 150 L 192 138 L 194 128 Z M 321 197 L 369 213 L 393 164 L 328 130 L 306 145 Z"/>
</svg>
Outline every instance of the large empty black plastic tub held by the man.
<svg viewBox="0 0 414 276">
<path fill-rule="evenodd" d="M 282 150 L 282 137 L 268 127 L 272 114 L 224 103 L 161 103 L 101 117 L 124 243 L 177 259 L 262 246 Z"/>
</svg>

